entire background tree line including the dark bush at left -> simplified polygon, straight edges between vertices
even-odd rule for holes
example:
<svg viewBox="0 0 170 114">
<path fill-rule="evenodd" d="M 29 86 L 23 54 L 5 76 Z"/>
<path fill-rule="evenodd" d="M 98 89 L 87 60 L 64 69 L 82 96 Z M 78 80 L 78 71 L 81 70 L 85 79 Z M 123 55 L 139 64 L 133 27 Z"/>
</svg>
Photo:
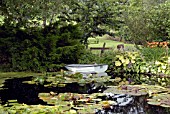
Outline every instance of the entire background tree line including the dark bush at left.
<svg viewBox="0 0 170 114">
<path fill-rule="evenodd" d="M 170 40 L 169 0 L 2 0 L 1 69 L 58 70 L 78 63 L 90 36 Z"/>
</svg>

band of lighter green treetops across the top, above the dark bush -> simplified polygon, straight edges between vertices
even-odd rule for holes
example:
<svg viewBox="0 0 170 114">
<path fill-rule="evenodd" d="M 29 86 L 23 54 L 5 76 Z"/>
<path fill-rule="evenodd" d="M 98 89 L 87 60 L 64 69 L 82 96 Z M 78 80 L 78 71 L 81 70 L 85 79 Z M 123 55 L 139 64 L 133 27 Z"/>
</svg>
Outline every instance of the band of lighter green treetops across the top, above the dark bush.
<svg viewBox="0 0 170 114">
<path fill-rule="evenodd" d="M 1 23 L 25 29 L 62 20 L 81 25 L 85 44 L 89 36 L 103 34 L 144 44 L 169 39 L 169 4 L 168 0 L 3 0 Z"/>
</svg>

